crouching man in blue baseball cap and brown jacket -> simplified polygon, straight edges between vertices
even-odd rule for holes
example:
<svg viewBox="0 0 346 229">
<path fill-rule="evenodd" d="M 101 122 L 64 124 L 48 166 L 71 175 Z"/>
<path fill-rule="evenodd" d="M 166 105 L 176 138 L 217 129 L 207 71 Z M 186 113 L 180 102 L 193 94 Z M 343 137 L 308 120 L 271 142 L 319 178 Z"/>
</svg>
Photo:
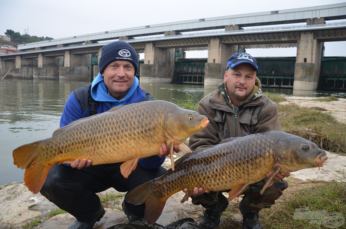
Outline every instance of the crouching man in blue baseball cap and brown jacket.
<svg viewBox="0 0 346 229">
<path fill-rule="evenodd" d="M 229 137 L 241 137 L 270 130 L 281 131 L 279 111 L 276 104 L 262 94 L 261 82 L 256 77 L 258 72 L 257 61 L 250 54 L 235 53 L 229 57 L 224 82 L 198 104 L 197 112 L 207 116 L 210 123 L 190 137 L 191 150 L 217 145 Z M 268 173 L 267 177 L 272 174 Z M 263 195 L 260 191 L 266 179 L 249 185 L 239 203 L 243 215 L 243 229 L 262 228 L 258 212 L 262 208 L 270 208 L 281 196 L 282 191 L 288 186 L 282 179 L 289 175 L 289 173 L 277 174 L 275 183 L 266 189 Z M 227 208 L 227 198 L 222 192 L 209 192 L 201 188 L 195 188 L 193 194 L 195 196 L 191 196 L 192 203 L 201 204 L 206 208 L 199 225 L 205 228 L 216 227 L 220 222 L 221 213 Z"/>
</svg>

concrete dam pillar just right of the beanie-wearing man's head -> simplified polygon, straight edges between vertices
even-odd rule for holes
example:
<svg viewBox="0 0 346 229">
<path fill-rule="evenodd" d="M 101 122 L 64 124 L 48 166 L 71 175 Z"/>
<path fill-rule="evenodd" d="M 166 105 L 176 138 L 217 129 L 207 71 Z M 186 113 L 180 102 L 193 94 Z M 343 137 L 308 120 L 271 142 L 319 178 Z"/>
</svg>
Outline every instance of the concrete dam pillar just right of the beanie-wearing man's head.
<svg viewBox="0 0 346 229">
<path fill-rule="evenodd" d="M 174 76 L 175 48 L 155 48 L 147 43 L 144 48 L 144 64 L 140 65 L 141 83 L 171 83 Z"/>
</svg>

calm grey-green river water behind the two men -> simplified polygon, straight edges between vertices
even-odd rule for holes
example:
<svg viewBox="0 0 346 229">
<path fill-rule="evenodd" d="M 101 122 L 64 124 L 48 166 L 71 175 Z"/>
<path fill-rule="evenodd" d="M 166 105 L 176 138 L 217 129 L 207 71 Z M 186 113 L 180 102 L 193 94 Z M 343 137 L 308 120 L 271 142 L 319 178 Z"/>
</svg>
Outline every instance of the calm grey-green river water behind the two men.
<svg viewBox="0 0 346 229">
<path fill-rule="evenodd" d="M 86 82 L 0 80 L 0 184 L 23 182 L 24 170 L 13 165 L 12 150 L 23 144 L 52 136 L 71 91 Z M 195 101 L 216 90 L 216 86 L 186 84 L 140 84 L 156 99 Z M 296 96 L 346 98 L 346 93 L 305 92 L 292 89 L 263 89 L 269 93 Z"/>
</svg>

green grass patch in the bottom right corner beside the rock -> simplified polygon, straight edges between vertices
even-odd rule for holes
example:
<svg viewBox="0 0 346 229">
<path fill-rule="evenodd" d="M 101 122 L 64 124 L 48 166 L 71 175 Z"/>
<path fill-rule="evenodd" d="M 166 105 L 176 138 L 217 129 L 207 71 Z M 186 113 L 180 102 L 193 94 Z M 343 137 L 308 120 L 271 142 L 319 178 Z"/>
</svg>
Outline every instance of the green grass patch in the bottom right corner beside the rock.
<svg viewBox="0 0 346 229">
<path fill-rule="evenodd" d="M 265 228 L 346 228 L 345 172 L 343 176 L 338 181 L 301 190 L 262 210 L 261 221 Z"/>
</svg>

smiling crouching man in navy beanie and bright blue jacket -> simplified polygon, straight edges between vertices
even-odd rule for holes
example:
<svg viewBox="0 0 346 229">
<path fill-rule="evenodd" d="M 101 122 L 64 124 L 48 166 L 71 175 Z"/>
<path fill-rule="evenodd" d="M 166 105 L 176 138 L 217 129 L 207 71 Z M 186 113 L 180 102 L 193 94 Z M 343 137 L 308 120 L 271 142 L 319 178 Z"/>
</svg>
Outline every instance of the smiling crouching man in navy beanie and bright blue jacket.
<svg viewBox="0 0 346 229">
<path fill-rule="evenodd" d="M 126 42 L 117 41 L 103 46 L 99 69 L 99 74 L 91 84 L 72 91 L 66 101 L 60 127 L 108 111 L 112 107 L 155 100 L 140 88 L 136 77 L 137 53 Z M 161 176 L 166 171 L 161 165 L 169 150 L 164 144 L 160 153 L 157 153 L 157 156 L 139 159 L 136 169 L 128 178 L 120 173 L 121 163 L 92 165 L 92 161 L 85 158 L 82 161 L 75 160 L 71 166 L 55 164 L 40 192 L 76 218 L 69 229 L 92 229 L 105 213 L 95 193 L 110 187 L 119 192 L 131 191 Z M 122 208 L 129 221 L 144 217 L 145 204 L 133 205 L 124 200 Z"/>
</svg>

